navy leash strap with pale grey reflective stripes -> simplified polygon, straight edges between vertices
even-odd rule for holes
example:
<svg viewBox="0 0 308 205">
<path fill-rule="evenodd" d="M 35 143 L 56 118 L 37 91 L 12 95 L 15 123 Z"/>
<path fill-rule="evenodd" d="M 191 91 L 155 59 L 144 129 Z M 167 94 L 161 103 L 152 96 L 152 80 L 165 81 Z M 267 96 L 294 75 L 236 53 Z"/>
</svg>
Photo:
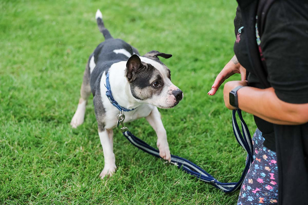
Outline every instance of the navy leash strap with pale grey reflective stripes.
<svg viewBox="0 0 308 205">
<path fill-rule="evenodd" d="M 236 120 L 236 112 L 238 113 L 238 116 L 241 120 L 241 127 L 242 127 L 242 133 L 241 130 L 237 124 Z M 179 169 L 182 169 L 182 171 L 187 172 L 190 175 L 193 175 L 197 177 L 198 179 L 208 182 L 212 184 L 214 187 L 221 189 L 225 193 L 230 193 L 233 192 L 241 187 L 241 184 L 243 183 L 243 180 L 245 178 L 245 175 L 253 162 L 253 146 L 252 146 L 252 140 L 251 136 L 248 130 L 248 127 L 242 117 L 241 110 L 233 110 L 233 115 L 232 115 L 232 124 L 233 124 L 233 132 L 235 135 L 235 138 L 237 142 L 245 149 L 245 151 L 248 153 L 248 159 L 247 163 L 245 166 L 245 169 L 241 175 L 241 178 L 238 182 L 233 182 L 233 183 L 222 183 L 215 179 L 212 175 L 210 175 L 208 172 L 205 170 L 201 169 L 198 167 L 196 164 L 192 163 L 189 160 L 186 160 L 182 157 L 171 155 L 171 163 L 176 165 Z M 127 128 L 124 128 L 127 129 Z M 122 129 L 123 130 L 123 129 Z M 159 151 L 144 141 L 140 140 L 136 136 L 134 136 L 130 131 L 123 132 L 123 135 L 129 140 L 130 143 L 132 143 L 135 147 L 141 149 L 144 152 L 147 152 L 148 154 L 151 154 L 155 157 L 158 157 L 161 159 L 159 156 Z"/>
</svg>

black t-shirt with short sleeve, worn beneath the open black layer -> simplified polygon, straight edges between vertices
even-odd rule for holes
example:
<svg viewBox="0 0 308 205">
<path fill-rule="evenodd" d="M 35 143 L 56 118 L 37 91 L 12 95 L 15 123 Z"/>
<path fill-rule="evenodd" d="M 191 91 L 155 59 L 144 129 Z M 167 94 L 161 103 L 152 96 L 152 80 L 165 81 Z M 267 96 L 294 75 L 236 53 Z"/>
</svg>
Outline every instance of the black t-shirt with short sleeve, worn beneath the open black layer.
<svg viewBox="0 0 308 205">
<path fill-rule="evenodd" d="M 234 19 L 234 53 L 249 72 L 248 85 L 261 88 L 250 66 L 241 11 Z M 277 97 L 288 103 L 308 103 L 308 2 L 275 1 L 268 10 L 261 35 L 268 81 Z M 255 39 L 257 43 L 257 38 Z M 275 151 L 273 124 L 254 116 L 265 138 L 264 146 Z"/>
</svg>

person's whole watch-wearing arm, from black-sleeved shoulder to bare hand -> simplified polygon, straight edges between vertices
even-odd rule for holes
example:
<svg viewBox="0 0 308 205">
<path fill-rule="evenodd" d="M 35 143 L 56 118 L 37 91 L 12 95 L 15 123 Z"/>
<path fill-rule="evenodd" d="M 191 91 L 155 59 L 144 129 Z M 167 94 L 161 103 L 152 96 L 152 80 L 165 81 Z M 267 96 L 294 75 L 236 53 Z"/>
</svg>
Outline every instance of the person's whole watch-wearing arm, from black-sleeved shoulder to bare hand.
<svg viewBox="0 0 308 205">
<path fill-rule="evenodd" d="M 263 120 L 285 125 L 308 122 L 308 35 L 306 18 L 300 14 L 271 7 L 261 38 L 262 57 L 265 59 L 267 80 L 271 88 L 244 87 L 238 90 L 239 108 Z M 255 39 L 251 39 L 255 40 Z M 243 84 L 225 84 L 225 104 L 229 92 Z M 244 83 L 245 84 L 245 83 Z"/>
</svg>

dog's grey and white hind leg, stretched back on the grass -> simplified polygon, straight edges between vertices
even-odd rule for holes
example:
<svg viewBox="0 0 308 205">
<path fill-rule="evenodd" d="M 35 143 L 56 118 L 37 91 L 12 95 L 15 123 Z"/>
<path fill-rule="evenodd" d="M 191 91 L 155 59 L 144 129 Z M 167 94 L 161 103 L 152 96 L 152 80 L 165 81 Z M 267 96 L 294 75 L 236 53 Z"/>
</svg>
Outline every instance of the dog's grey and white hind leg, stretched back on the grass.
<svg viewBox="0 0 308 205">
<path fill-rule="evenodd" d="M 72 128 L 77 128 L 79 125 L 83 124 L 84 114 L 86 112 L 87 100 L 91 95 L 90 87 L 90 59 L 93 54 L 90 56 L 89 61 L 87 62 L 86 69 L 83 73 L 83 82 L 80 89 L 80 98 L 76 112 L 71 120 Z"/>
</svg>

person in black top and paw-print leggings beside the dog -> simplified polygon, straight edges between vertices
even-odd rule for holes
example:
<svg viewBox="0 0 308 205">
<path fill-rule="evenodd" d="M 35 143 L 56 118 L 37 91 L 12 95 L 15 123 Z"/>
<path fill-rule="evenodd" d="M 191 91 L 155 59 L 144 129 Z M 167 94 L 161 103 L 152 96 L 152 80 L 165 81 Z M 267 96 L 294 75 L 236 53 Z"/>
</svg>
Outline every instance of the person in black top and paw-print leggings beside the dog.
<svg viewBox="0 0 308 205">
<path fill-rule="evenodd" d="M 240 73 L 224 85 L 225 106 L 253 114 L 257 125 L 238 204 L 308 204 L 308 2 L 237 2 L 235 55 L 208 94 Z"/>
</svg>

